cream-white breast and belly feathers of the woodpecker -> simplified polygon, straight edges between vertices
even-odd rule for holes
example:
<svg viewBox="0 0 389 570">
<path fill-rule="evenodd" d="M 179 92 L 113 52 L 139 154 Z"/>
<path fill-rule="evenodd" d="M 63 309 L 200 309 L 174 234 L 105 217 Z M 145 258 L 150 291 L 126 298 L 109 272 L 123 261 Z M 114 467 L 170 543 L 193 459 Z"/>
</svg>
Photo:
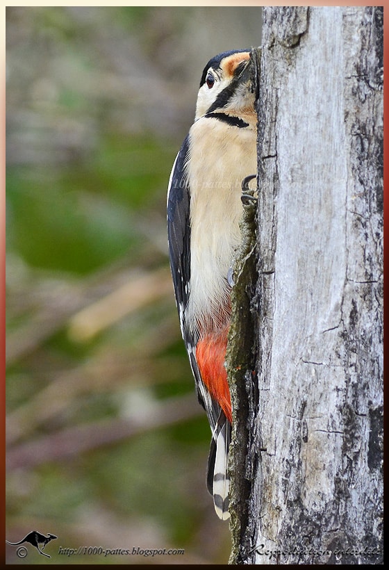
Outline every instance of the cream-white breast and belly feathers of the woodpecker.
<svg viewBox="0 0 389 570">
<path fill-rule="evenodd" d="M 190 129 L 190 295 L 186 323 L 191 332 L 198 333 L 199 327 L 221 328 L 229 320 L 231 287 L 227 275 L 241 239 L 242 179 L 256 172 L 255 141 L 255 130 L 229 127 L 215 119 L 199 119 Z"/>
</svg>

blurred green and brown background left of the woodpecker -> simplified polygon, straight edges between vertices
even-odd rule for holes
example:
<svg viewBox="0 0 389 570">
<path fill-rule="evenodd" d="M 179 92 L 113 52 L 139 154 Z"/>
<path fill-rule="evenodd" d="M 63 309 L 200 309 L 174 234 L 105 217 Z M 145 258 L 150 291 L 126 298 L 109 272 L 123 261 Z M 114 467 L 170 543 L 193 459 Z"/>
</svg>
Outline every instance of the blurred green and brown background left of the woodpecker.
<svg viewBox="0 0 389 570">
<path fill-rule="evenodd" d="M 165 202 L 204 65 L 259 45 L 260 18 L 259 7 L 6 8 L 6 538 L 57 535 L 53 564 L 228 561 Z M 8 564 L 44 562 L 33 546 L 15 552 Z"/>
</svg>

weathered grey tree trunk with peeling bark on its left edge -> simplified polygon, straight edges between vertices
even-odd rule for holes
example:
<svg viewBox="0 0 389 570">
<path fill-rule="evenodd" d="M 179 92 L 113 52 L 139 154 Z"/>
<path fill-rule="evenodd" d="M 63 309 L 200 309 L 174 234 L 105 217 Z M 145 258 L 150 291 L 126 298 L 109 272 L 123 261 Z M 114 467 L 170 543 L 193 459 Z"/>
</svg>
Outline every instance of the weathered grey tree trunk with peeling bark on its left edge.
<svg viewBox="0 0 389 570">
<path fill-rule="evenodd" d="M 230 562 L 380 564 L 383 8 L 264 8 L 260 65 Z"/>
</svg>

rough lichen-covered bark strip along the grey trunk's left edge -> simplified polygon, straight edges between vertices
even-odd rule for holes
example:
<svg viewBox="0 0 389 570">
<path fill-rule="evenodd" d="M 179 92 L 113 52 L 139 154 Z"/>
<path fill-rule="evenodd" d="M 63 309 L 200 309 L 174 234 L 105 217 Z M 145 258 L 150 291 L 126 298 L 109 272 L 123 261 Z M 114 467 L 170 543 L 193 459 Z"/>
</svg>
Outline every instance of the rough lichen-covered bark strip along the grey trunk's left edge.
<svg viewBox="0 0 389 570">
<path fill-rule="evenodd" d="M 253 86 L 258 95 L 260 49 L 253 49 Z M 248 175 L 251 172 L 247 173 Z M 254 197 L 252 190 L 245 194 Z M 232 551 L 231 564 L 247 559 L 249 550 L 255 548 L 251 533 L 247 534 L 248 506 L 254 464 L 249 449 L 254 429 L 249 418 L 255 418 L 252 407 L 256 405 L 256 306 L 257 247 L 256 247 L 256 199 L 243 198 L 243 215 L 240 222 L 242 241 L 233 263 L 234 285 L 231 291 L 231 326 L 226 353 L 226 369 L 233 402 L 233 434 L 230 446 L 230 512 Z M 243 536 L 245 535 L 245 537 Z M 247 542 L 247 538 L 249 542 Z M 245 553 L 242 553 L 242 549 Z M 243 554 L 243 555 L 242 555 Z"/>
</svg>

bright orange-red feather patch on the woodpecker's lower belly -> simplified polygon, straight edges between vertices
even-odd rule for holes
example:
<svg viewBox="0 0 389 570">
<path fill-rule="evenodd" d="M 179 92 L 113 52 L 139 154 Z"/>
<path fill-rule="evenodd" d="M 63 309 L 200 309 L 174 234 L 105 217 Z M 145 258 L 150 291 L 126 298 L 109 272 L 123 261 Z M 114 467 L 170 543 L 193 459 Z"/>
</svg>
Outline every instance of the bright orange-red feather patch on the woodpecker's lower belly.
<svg viewBox="0 0 389 570">
<path fill-rule="evenodd" d="M 232 423 L 231 396 L 227 382 L 226 359 L 228 327 L 200 339 L 196 347 L 196 360 L 210 396 L 217 400 L 226 418 Z"/>
</svg>

